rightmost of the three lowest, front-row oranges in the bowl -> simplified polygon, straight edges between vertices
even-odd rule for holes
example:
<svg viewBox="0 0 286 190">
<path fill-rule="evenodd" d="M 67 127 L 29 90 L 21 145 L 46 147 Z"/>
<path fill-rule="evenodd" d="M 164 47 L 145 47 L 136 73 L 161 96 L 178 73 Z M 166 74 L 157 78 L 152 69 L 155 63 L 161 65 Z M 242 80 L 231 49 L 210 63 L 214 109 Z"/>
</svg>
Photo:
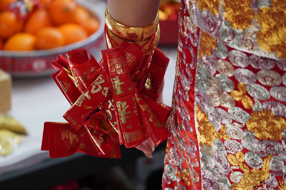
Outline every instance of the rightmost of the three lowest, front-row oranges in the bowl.
<svg viewBox="0 0 286 190">
<path fill-rule="evenodd" d="M 59 26 L 58 29 L 65 36 L 65 45 L 83 40 L 84 38 L 88 37 L 86 30 L 79 24 L 66 23 Z"/>
</svg>

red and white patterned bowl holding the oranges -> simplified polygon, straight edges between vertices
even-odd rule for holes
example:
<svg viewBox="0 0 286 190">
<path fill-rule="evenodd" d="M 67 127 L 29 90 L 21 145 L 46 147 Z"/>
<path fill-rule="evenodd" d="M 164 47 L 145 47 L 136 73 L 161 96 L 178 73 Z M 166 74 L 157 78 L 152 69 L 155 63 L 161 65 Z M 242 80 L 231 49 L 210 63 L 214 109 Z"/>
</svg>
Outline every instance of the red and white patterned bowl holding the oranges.
<svg viewBox="0 0 286 190">
<path fill-rule="evenodd" d="M 92 35 L 84 40 L 80 40 L 73 44 L 47 49 L 33 51 L 5 51 L 0 50 L 0 68 L 13 77 L 36 77 L 50 75 L 55 72 L 51 62 L 58 55 L 66 57 L 66 52 L 72 49 L 85 48 L 88 54 L 101 54 L 104 40 L 104 11 L 106 2 L 102 0 L 77 0 L 90 11 L 90 13 L 100 21 L 100 27 Z"/>
</svg>

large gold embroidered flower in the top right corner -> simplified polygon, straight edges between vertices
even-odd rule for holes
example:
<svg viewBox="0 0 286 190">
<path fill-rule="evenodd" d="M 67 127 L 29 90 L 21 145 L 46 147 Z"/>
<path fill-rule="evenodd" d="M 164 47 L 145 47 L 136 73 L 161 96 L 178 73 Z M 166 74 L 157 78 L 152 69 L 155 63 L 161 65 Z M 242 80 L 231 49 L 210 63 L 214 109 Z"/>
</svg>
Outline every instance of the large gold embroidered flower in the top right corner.
<svg viewBox="0 0 286 190">
<path fill-rule="evenodd" d="M 286 1 L 273 0 L 270 7 L 261 7 L 257 22 L 261 26 L 257 43 L 265 51 L 286 58 Z"/>
</svg>

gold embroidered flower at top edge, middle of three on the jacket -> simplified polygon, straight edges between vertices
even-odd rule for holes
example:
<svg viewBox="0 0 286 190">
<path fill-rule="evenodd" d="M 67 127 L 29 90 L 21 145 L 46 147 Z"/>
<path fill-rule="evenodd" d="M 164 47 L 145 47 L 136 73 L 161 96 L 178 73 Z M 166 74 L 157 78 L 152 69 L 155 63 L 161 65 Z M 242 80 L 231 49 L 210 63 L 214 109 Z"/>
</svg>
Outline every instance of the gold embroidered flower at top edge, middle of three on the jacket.
<svg viewBox="0 0 286 190">
<path fill-rule="evenodd" d="M 255 12 L 250 5 L 252 0 L 233 1 L 225 0 L 223 9 L 225 9 L 225 19 L 233 28 L 244 30 L 245 27 L 251 27 L 252 19 L 255 17 Z"/>
</svg>

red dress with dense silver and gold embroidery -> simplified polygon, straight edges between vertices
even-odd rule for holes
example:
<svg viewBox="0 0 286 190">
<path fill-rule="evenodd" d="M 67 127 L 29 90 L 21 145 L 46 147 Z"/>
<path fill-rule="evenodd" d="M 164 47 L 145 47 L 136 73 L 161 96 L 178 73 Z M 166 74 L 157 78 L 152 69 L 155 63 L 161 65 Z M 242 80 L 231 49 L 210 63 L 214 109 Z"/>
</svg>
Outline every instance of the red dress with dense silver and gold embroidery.
<svg viewBox="0 0 286 190">
<path fill-rule="evenodd" d="M 163 190 L 286 189 L 286 1 L 182 1 Z"/>
</svg>

